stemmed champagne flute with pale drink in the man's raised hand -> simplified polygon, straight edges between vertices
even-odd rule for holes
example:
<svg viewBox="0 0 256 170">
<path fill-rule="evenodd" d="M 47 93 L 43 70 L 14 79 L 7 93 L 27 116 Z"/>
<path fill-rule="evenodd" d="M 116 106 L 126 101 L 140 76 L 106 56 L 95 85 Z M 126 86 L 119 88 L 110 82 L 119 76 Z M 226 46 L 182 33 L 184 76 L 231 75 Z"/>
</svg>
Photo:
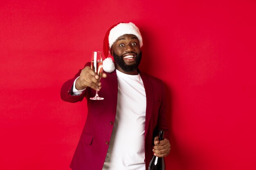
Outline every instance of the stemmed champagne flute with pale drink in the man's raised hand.
<svg viewBox="0 0 256 170">
<path fill-rule="evenodd" d="M 92 62 L 91 68 L 92 70 L 99 75 L 99 80 L 101 79 L 103 73 L 103 62 L 102 62 L 102 55 L 101 51 L 92 51 Z M 96 86 L 98 89 L 98 85 Z M 91 100 L 103 100 L 103 97 L 99 97 L 98 90 L 96 90 L 96 95 L 90 98 Z"/>
</svg>

